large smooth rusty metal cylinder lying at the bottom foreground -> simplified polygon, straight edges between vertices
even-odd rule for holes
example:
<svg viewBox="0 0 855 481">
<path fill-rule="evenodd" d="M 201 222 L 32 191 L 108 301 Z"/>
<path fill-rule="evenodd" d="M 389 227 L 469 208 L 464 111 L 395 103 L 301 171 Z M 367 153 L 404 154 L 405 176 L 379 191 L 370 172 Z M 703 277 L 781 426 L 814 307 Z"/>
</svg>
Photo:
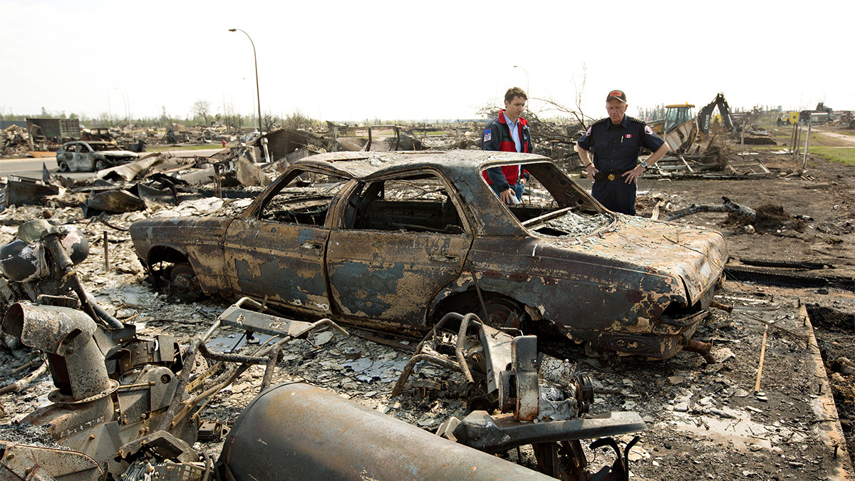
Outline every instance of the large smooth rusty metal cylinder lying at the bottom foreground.
<svg viewBox="0 0 855 481">
<path fill-rule="evenodd" d="M 258 395 L 218 462 L 237 481 L 552 479 L 304 383 Z"/>
</svg>

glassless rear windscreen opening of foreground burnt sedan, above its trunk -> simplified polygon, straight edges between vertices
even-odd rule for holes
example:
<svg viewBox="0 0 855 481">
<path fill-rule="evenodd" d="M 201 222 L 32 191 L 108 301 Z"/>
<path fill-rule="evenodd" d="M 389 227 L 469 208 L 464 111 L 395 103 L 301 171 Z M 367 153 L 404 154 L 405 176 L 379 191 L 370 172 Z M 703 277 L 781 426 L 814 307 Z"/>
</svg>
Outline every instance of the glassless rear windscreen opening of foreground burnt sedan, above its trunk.
<svg viewBox="0 0 855 481">
<path fill-rule="evenodd" d="M 555 164 L 531 163 L 522 167 L 531 175 L 522 204 L 505 207 L 534 234 L 578 237 L 591 234 L 613 220 L 608 211 Z M 498 196 L 496 201 L 501 202 Z"/>
</svg>

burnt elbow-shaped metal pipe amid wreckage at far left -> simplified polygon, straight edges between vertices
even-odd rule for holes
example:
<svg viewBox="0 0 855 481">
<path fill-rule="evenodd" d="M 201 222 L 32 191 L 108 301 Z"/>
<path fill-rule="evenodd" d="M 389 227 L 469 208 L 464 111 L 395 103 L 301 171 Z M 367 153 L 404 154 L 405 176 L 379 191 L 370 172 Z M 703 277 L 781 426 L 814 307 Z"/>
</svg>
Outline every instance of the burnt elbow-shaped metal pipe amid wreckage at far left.
<svg viewBox="0 0 855 481">
<path fill-rule="evenodd" d="M 60 306 L 16 302 L 3 319 L 3 332 L 51 357 L 50 373 L 62 395 L 75 401 L 102 394 L 111 386 L 95 339 L 96 325 L 85 312 Z M 70 391 L 70 392 L 69 392 Z"/>
</svg>

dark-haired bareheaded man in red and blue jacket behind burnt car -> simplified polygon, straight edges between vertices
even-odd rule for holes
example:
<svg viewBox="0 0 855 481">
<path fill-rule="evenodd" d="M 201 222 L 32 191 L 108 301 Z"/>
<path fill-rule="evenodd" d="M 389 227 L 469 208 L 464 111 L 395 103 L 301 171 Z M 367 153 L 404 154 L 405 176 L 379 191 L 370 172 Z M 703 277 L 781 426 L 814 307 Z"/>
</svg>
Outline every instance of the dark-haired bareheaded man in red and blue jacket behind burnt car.
<svg viewBox="0 0 855 481">
<path fill-rule="evenodd" d="M 504 109 L 497 118 L 486 124 L 481 134 L 482 151 L 531 153 L 528 121 L 522 118 L 526 100 L 526 92 L 516 86 L 504 93 Z M 505 204 L 519 204 L 522 201 L 522 192 L 530 176 L 526 169 L 522 169 L 522 165 L 505 165 L 484 171 L 486 182 Z"/>
</svg>

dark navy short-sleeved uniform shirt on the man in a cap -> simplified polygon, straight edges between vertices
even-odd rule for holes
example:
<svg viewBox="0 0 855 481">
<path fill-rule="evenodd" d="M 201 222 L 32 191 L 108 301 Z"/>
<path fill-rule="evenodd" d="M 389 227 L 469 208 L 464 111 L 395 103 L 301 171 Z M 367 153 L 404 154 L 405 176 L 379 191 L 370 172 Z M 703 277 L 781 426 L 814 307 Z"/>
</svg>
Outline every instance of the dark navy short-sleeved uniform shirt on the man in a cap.
<svg viewBox="0 0 855 481">
<path fill-rule="evenodd" d="M 593 122 L 576 144 L 593 151 L 598 170 L 625 172 L 635 168 L 641 147 L 657 151 L 664 141 L 644 121 L 625 115 L 617 125 L 609 117 Z"/>
</svg>

